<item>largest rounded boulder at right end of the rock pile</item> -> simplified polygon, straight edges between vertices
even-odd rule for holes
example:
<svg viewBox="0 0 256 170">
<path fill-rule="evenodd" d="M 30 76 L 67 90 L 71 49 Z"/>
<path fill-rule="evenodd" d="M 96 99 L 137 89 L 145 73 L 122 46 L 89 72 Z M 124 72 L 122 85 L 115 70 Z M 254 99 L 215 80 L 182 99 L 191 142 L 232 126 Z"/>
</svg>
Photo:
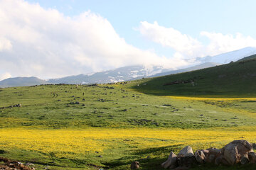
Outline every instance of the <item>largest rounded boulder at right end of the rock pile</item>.
<svg viewBox="0 0 256 170">
<path fill-rule="evenodd" d="M 229 165 L 234 165 L 241 162 L 243 155 L 252 151 L 252 145 L 246 140 L 234 140 L 223 147 L 223 156 Z"/>
</svg>

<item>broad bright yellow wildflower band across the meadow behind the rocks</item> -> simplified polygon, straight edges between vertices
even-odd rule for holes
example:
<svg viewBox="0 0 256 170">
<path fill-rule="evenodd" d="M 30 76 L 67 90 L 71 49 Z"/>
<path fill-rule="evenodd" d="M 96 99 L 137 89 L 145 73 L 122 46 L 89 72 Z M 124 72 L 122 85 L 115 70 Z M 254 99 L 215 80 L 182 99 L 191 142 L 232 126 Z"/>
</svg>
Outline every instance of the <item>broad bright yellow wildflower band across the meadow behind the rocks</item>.
<svg viewBox="0 0 256 170">
<path fill-rule="evenodd" d="M 223 147 L 233 140 L 256 142 L 256 128 L 214 130 L 181 129 L 110 129 L 38 130 L 5 128 L 0 130 L 0 148 L 24 149 L 42 153 L 54 152 L 56 157 L 75 157 L 76 154 L 104 152 L 117 147 L 146 149 L 171 145 L 191 145 L 193 149 Z"/>
</svg>

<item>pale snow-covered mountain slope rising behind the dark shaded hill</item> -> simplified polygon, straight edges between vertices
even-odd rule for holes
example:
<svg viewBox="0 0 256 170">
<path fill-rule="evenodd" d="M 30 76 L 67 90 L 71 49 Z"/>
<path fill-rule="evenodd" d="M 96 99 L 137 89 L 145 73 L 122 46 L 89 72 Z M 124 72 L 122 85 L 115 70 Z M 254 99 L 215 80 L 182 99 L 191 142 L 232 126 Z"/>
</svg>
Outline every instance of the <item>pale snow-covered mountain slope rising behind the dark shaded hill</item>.
<svg viewBox="0 0 256 170">
<path fill-rule="evenodd" d="M 228 64 L 230 62 L 238 61 L 244 57 L 255 55 L 256 47 L 245 47 L 240 50 L 235 50 L 232 52 L 226 52 L 220 55 L 215 55 L 213 57 L 206 56 L 197 58 L 197 62 L 205 63 L 205 62 L 216 62 L 220 64 Z"/>
</svg>

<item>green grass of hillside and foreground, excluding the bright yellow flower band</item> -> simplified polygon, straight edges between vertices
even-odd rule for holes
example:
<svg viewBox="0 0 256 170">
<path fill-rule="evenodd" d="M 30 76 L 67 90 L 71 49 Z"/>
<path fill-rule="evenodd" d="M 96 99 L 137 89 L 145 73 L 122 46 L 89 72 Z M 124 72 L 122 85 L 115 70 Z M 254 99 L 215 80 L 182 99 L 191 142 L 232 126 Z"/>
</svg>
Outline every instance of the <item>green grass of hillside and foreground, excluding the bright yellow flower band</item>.
<svg viewBox="0 0 256 170">
<path fill-rule="evenodd" d="M 42 85 L 0 89 L 0 128 L 85 129 L 149 128 L 210 129 L 256 126 L 256 61 L 234 62 L 194 72 L 166 77 L 130 81 L 127 84 L 75 86 Z M 175 84 L 176 80 L 193 79 L 194 86 Z M 139 85 L 139 86 L 138 86 Z M 110 88 L 111 87 L 111 88 Z M 113 88 L 113 89 L 112 89 Z M 169 98 L 166 96 L 218 97 L 218 100 Z M 247 98 L 222 100 L 222 98 Z M 250 99 L 252 98 L 252 99 Z M 79 102 L 79 104 L 76 104 Z M 11 107 L 20 103 L 21 107 Z M 113 143 L 98 158 L 97 154 L 55 157 L 55 153 L 10 149 L 0 152 L 22 162 L 33 162 L 38 169 L 129 169 L 138 160 L 142 169 L 161 169 L 169 152 L 183 145 L 130 148 Z M 1 148 L 0 148 L 1 150 Z M 146 159 L 146 157 L 150 157 Z M 91 164 L 91 165 L 90 165 Z M 233 169 L 232 167 L 198 166 L 195 169 Z M 238 166 L 236 169 L 255 169 Z"/>
</svg>

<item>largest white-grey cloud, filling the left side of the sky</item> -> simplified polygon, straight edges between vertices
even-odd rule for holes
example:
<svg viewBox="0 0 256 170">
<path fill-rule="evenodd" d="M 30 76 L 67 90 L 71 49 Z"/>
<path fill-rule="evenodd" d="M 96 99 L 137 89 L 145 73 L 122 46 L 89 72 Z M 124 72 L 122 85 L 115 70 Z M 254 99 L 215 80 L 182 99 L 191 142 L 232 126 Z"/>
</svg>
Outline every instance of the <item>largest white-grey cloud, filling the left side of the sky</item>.
<svg viewBox="0 0 256 170">
<path fill-rule="evenodd" d="M 187 64 L 127 44 L 106 18 L 90 11 L 68 17 L 8 0 L 0 1 L 0 18 L 0 67 L 13 76 L 55 78 L 130 64 Z"/>
</svg>

